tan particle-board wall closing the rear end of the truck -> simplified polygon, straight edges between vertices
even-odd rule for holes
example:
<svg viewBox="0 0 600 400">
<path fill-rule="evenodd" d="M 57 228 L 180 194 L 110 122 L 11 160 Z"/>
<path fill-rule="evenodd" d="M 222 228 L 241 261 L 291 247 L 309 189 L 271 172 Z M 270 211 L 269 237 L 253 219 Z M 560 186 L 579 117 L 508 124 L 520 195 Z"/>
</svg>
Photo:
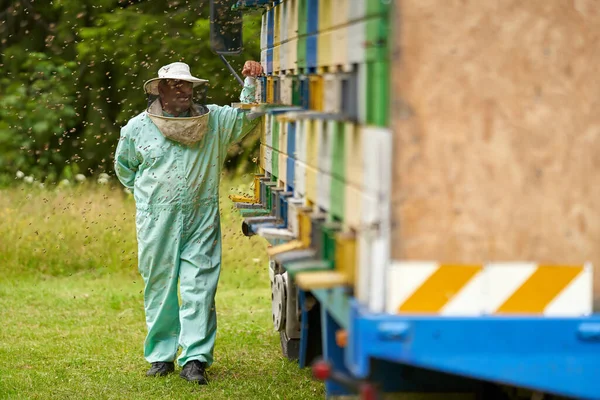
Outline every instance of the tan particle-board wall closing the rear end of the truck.
<svg viewBox="0 0 600 400">
<path fill-rule="evenodd" d="M 595 265 L 600 6 L 399 0 L 393 253 Z"/>
</svg>

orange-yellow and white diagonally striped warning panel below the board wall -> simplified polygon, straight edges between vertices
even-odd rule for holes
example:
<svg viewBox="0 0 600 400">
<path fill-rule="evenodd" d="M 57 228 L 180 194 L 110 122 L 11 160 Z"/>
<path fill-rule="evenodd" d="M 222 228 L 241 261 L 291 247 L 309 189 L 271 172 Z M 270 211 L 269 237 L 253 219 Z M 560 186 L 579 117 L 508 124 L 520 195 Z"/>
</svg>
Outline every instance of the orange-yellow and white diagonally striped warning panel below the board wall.
<svg viewBox="0 0 600 400">
<path fill-rule="evenodd" d="M 386 311 L 393 314 L 580 316 L 592 312 L 591 264 L 395 262 Z"/>
</svg>

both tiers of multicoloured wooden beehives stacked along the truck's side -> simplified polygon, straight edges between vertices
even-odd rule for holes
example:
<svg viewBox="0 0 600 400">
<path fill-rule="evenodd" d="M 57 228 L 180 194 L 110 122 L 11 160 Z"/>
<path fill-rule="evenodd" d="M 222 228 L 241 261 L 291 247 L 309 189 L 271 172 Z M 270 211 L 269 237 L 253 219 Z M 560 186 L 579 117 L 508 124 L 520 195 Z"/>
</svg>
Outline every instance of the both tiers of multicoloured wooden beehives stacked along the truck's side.
<svg viewBox="0 0 600 400">
<path fill-rule="evenodd" d="M 384 274 L 372 272 L 387 265 L 390 232 L 389 3 L 269 2 L 256 99 L 296 107 L 273 108 L 261 138 L 266 211 L 284 213 L 298 239 L 271 253 L 314 249 L 312 264 L 286 268 L 302 270 L 306 287 L 352 287 L 379 309 L 384 282 L 372 277 Z"/>
</svg>

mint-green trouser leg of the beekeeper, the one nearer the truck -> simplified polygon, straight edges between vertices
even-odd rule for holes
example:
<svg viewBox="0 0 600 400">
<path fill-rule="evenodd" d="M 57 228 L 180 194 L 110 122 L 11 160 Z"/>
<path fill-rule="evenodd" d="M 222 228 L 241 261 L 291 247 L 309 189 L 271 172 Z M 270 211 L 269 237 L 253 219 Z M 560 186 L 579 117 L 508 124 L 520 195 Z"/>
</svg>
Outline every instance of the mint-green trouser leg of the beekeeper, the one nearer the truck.
<svg viewBox="0 0 600 400">
<path fill-rule="evenodd" d="M 215 294 L 221 271 L 218 203 L 186 212 L 179 270 L 181 354 L 178 364 L 198 360 L 210 366 L 217 333 Z"/>
</svg>

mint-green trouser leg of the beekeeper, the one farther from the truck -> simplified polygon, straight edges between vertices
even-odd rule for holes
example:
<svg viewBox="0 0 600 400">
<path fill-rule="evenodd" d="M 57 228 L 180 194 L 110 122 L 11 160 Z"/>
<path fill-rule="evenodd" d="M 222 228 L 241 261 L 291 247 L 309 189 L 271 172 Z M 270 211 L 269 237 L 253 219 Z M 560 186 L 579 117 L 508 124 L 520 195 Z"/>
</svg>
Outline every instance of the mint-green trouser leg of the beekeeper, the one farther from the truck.
<svg viewBox="0 0 600 400">
<path fill-rule="evenodd" d="M 138 264 L 144 279 L 148 362 L 174 361 L 179 337 L 179 244 L 181 214 L 176 210 L 137 211 Z"/>
</svg>

